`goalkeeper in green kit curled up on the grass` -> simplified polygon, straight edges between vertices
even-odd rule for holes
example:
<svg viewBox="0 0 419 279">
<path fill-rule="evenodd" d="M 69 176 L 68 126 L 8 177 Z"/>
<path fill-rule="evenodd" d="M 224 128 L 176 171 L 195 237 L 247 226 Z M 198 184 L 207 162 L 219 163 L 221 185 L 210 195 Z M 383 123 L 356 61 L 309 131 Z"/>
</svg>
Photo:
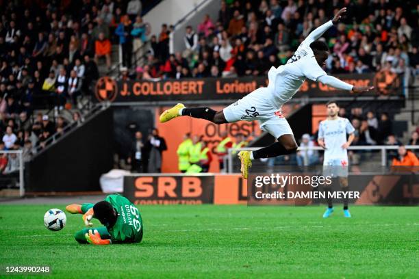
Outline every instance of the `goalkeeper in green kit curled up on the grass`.
<svg viewBox="0 0 419 279">
<path fill-rule="evenodd" d="M 84 224 L 92 226 L 92 218 L 104 226 L 84 228 L 75 233 L 79 243 L 106 245 L 111 243 L 136 243 L 142 239 L 142 219 L 140 211 L 127 198 L 109 195 L 97 204 L 70 204 L 66 211 L 83 214 Z"/>
</svg>

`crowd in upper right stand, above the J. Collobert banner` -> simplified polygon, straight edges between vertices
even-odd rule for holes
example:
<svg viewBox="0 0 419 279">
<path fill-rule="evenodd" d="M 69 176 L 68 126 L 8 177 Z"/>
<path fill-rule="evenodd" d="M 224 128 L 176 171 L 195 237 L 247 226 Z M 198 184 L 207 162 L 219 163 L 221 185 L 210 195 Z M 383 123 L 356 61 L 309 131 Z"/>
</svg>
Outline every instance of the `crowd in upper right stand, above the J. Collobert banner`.
<svg viewBox="0 0 419 279">
<path fill-rule="evenodd" d="M 162 25 L 160 34 L 150 37 L 151 53 L 136 68 L 136 78 L 265 75 L 270 66 L 285 64 L 299 43 L 343 6 L 348 13 L 324 36 L 333 54 L 327 72 L 419 73 L 419 5 L 414 1 L 230 0 L 221 1 L 218 18 L 207 15 L 198 26 L 186 27 L 183 53 L 169 53 L 173 27 Z M 138 23 L 123 28 L 135 30 Z M 140 34 L 144 44 L 147 28 Z M 128 33 L 120 42 L 129 40 Z"/>
</svg>

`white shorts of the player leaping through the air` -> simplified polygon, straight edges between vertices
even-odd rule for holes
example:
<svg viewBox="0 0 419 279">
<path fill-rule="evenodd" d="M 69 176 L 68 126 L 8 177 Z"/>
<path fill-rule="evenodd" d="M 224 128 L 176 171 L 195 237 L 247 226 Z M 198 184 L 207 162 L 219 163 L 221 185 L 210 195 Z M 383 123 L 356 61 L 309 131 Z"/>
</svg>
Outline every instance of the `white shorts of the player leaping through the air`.
<svg viewBox="0 0 419 279">
<path fill-rule="evenodd" d="M 288 121 L 281 109 L 268 98 L 268 88 L 258 88 L 236 103 L 223 110 L 227 122 L 240 120 L 259 120 L 260 129 L 273 135 L 276 139 L 281 135 L 293 135 Z"/>
</svg>

